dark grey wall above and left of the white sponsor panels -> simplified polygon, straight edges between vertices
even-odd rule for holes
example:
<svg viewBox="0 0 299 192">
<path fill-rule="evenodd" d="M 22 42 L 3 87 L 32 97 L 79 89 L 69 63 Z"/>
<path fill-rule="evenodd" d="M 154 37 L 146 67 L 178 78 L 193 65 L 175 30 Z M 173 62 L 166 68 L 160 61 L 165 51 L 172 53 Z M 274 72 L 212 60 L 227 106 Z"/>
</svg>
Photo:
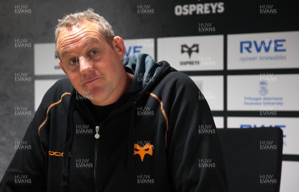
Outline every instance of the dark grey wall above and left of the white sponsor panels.
<svg viewBox="0 0 299 192">
<path fill-rule="evenodd" d="M 93 7 L 123 38 L 201 35 L 198 22 L 213 21 L 214 34 L 299 30 L 298 11 L 288 1 L 277 3 L 279 14 L 261 17 L 261 2 L 231 0 L 223 14 L 174 15 L 175 4 L 198 3 L 198 0 L 0 0 L 0 179 L 14 150 L 34 115 L 34 79 L 64 76 L 34 76 L 33 44 L 54 41 L 54 26 L 65 13 Z M 149 4 L 152 15 L 137 14 L 138 4 Z M 16 14 L 15 5 L 27 5 L 31 13 Z M 255 10 L 257 9 L 257 10 Z M 255 13 L 256 11 L 256 13 Z M 297 22 L 294 23 L 295 18 Z M 206 34 L 202 34 L 206 35 Z M 16 48 L 15 39 L 27 39 L 31 48 Z M 225 63 L 226 65 L 226 63 Z M 29 82 L 15 82 L 15 73 L 26 73 Z M 38 90 L 35 90 L 38 91 Z M 27 107 L 29 116 L 15 116 L 15 107 Z M 223 114 L 225 115 L 225 111 Z"/>
</svg>

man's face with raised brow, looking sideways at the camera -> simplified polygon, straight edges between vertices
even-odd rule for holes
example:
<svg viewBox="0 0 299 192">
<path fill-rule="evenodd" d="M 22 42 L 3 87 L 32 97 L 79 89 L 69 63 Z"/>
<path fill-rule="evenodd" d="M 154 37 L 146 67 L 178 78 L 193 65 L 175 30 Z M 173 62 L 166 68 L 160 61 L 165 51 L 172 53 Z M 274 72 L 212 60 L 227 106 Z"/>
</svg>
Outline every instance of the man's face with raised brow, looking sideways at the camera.
<svg viewBox="0 0 299 192">
<path fill-rule="evenodd" d="M 125 55 L 121 37 L 113 39 L 113 48 L 94 22 L 64 28 L 58 35 L 59 65 L 74 88 L 95 105 L 116 102 L 127 83 L 121 59 Z"/>
</svg>

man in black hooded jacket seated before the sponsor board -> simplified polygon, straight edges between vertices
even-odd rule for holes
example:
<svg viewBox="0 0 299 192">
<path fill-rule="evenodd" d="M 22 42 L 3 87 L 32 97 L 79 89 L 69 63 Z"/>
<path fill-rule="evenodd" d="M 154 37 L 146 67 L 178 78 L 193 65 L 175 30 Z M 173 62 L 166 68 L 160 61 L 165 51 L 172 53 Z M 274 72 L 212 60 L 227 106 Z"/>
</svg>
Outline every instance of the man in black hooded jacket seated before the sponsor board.
<svg viewBox="0 0 299 192">
<path fill-rule="evenodd" d="M 92 9 L 59 20 L 55 44 L 68 79 L 45 94 L 1 192 L 227 191 L 209 106 L 188 76 L 147 54 L 124 58 Z"/>
</svg>

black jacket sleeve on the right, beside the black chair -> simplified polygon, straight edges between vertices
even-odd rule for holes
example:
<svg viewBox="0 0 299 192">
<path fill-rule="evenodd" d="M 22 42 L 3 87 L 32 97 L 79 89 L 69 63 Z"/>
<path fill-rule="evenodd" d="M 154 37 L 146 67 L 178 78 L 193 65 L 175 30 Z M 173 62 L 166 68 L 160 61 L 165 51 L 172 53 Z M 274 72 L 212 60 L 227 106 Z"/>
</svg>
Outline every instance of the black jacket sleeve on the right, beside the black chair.
<svg viewBox="0 0 299 192">
<path fill-rule="evenodd" d="M 173 85 L 167 147 L 176 192 L 227 192 L 224 160 L 207 101 L 181 75 Z"/>
</svg>

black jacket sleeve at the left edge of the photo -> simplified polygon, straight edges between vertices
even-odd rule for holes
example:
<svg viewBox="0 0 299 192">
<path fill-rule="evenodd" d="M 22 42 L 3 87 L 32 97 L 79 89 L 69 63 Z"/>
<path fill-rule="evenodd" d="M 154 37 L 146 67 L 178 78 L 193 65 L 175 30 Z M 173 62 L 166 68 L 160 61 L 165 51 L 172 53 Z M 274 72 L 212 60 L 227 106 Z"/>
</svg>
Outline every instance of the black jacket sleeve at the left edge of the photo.
<svg viewBox="0 0 299 192">
<path fill-rule="evenodd" d="M 45 95 L 44 100 L 48 100 Z M 45 155 L 38 127 L 46 118 L 45 102 L 36 111 L 21 141 L 15 141 L 15 155 L 0 183 L 0 192 L 46 192 Z"/>
</svg>

